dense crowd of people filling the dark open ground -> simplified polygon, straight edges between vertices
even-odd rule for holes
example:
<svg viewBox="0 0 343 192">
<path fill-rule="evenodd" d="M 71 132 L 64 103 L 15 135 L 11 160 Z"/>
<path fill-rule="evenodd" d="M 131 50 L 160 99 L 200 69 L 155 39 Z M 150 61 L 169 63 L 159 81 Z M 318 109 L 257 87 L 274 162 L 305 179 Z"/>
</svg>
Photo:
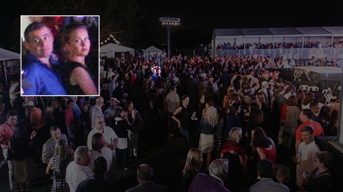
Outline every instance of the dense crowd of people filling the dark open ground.
<svg viewBox="0 0 343 192">
<path fill-rule="evenodd" d="M 283 61 L 179 55 L 158 65 L 153 57 L 105 57 L 100 96 L 86 98 L 21 97 L 14 81 L 0 103 L 10 187 L 29 191 L 33 164 L 46 163 L 52 191 L 89 191 L 99 183 L 115 191 L 107 179 L 139 158 L 139 133 L 168 120 L 169 135 L 184 140 L 183 191 L 332 189 L 332 155 L 314 136 L 337 134 L 340 101 L 328 105 L 265 70 Z M 296 169 L 278 161 L 285 151 Z M 151 182 L 152 173 L 139 166 L 140 184 L 129 191 L 168 190 Z"/>
</svg>

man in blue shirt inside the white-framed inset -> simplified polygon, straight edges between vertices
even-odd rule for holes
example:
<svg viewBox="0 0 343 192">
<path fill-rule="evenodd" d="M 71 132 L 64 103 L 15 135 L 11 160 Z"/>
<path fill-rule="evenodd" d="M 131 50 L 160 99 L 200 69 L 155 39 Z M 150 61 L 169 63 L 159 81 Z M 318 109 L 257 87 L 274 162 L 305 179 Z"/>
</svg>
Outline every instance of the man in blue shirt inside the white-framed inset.
<svg viewBox="0 0 343 192">
<path fill-rule="evenodd" d="M 51 30 L 39 22 L 31 23 L 24 32 L 23 45 L 30 52 L 23 69 L 23 95 L 66 95 L 53 69 L 59 65 Z"/>
</svg>

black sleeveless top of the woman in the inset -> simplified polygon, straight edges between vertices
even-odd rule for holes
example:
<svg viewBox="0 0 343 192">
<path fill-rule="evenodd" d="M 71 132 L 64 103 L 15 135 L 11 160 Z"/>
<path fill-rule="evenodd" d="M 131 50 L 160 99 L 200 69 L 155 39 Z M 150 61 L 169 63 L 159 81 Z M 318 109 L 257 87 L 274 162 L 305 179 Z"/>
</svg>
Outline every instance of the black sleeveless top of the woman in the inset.
<svg viewBox="0 0 343 192">
<path fill-rule="evenodd" d="M 62 84 L 64 88 L 67 91 L 67 95 L 86 95 L 81 87 L 79 85 L 71 85 L 70 84 L 70 76 L 71 72 L 76 68 L 76 67 L 81 67 L 87 71 L 89 76 L 92 78 L 92 81 L 94 82 L 95 87 L 98 87 L 98 82 L 94 81 L 94 78 L 92 77 L 91 73 L 87 70 L 87 68 L 82 65 L 81 63 L 74 62 L 74 61 L 65 61 L 64 64 L 64 70 L 61 71 L 61 76 L 62 76 Z M 98 88 L 97 88 L 98 89 Z"/>
</svg>

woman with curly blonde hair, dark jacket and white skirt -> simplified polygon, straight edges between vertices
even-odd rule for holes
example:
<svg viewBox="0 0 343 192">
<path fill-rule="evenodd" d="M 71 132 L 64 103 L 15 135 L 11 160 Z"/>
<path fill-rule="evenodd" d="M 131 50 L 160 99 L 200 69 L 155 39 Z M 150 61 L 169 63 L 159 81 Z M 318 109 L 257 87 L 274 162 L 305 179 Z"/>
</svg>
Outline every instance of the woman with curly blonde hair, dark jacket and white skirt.
<svg viewBox="0 0 343 192">
<path fill-rule="evenodd" d="M 198 133 L 200 133 L 199 149 L 203 153 L 207 153 L 206 171 L 209 170 L 209 165 L 211 163 L 211 153 L 214 148 L 214 134 L 218 124 L 218 117 L 217 110 L 214 107 L 209 107 L 206 110 L 204 117 L 200 120 L 198 127 Z"/>
</svg>

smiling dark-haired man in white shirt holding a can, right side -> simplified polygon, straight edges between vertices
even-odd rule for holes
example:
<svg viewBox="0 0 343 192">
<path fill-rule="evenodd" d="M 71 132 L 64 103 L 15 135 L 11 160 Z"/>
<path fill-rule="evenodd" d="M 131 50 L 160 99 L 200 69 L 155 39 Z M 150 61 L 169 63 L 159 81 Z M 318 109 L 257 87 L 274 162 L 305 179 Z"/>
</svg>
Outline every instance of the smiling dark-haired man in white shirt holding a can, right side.
<svg viewBox="0 0 343 192">
<path fill-rule="evenodd" d="M 316 168 L 315 153 L 320 151 L 319 147 L 314 141 L 314 129 L 311 126 L 304 126 L 301 128 L 301 137 L 303 142 L 298 147 L 297 156 L 293 157 L 293 162 L 297 165 L 297 178 L 296 183 L 300 189 L 303 189 L 303 172 L 307 171 L 308 176 Z"/>
</svg>

